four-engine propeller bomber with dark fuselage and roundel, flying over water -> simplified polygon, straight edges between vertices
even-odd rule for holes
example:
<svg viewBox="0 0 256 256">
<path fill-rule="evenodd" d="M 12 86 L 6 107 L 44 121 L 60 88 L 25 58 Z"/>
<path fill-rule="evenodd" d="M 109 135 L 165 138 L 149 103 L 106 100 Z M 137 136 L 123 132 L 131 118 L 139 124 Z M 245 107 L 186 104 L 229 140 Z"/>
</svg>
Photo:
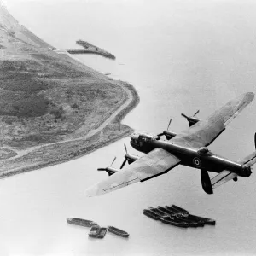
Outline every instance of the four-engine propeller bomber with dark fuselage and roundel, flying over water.
<svg viewBox="0 0 256 256">
<path fill-rule="evenodd" d="M 237 181 L 238 176 L 249 177 L 252 173 L 251 166 L 256 162 L 255 151 L 245 159 L 236 162 L 213 154 L 207 146 L 225 130 L 230 120 L 253 101 L 253 98 L 253 92 L 247 92 L 219 108 L 206 120 L 185 116 L 188 120 L 192 120 L 189 122 L 189 129 L 180 134 L 164 131 L 160 135 L 165 134 L 169 139 L 167 141 L 161 140 L 160 135 L 132 134 L 131 146 L 145 153 L 143 157 L 130 159 L 130 162 L 128 159 L 131 165 L 125 166 L 119 172 L 115 172 L 112 168 L 113 172 L 111 170 L 108 172 L 110 177 L 87 189 L 85 194 L 102 195 L 132 183 L 144 182 L 169 172 L 177 165 L 201 169 L 201 184 L 207 194 L 212 194 L 212 189 L 231 179 Z M 256 134 L 254 143 L 256 144 Z M 218 172 L 218 175 L 211 180 L 208 171 Z"/>
</svg>

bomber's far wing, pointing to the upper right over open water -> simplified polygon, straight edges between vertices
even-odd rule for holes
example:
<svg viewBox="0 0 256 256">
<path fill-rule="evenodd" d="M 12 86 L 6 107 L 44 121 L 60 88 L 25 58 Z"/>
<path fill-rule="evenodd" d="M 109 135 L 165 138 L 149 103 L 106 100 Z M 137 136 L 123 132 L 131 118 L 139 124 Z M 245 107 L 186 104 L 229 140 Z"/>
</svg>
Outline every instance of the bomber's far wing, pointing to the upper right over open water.
<svg viewBox="0 0 256 256">
<path fill-rule="evenodd" d="M 192 148 L 210 145 L 225 130 L 226 125 L 253 101 L 253 98 L 253 92 L 247 92 L 238 96 L 212 113 L 207 119 L 197 122 L 189 127 L 188 130 L 172 138 L 171 142 Z"/>
</svg>

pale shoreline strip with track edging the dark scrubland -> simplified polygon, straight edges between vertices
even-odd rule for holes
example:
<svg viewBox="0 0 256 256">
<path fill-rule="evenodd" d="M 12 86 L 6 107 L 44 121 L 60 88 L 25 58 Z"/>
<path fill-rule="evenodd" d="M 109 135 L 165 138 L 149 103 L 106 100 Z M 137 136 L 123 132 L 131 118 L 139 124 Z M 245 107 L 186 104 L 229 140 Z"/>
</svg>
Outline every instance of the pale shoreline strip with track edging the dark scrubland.
<svg viewBox="0 0 256 256">
<path fill-rule="evenodd" d="M 6 12 L 9 15 L 6 9 L 3 10 L 3 7 L 0 7 L 0 9 L 2 9 L 2 11 Z M 14 19 L 11 15 L 9 16 Z M 14 23 L 13 20 L 11 21 Z M 23 43 L 25 42 L 25 44 L 31 44 L 31 42 L 33 42 L 32 39 L 36 38 L 36 47 L 43 47 L 44 49 L 46 49 L 47 46 L 47 49 L 51 51 L 51 49 L 49 49 L 48 47 L 49 44 L 45 43 L 42 39 L 38 38 L 32 32 L 28 31 L 26 27 L 20 26 L 19 24 L 15 24 L 15 26 L 17 26 L 18 29 L 21 28 L 21 31 L 25 31 L 26 36 L 29 35 L 29 38 L 26 39 L 26 37 L 24 37 L 24 34 L 15 31 L 15 34 L 20 37 L 18 38 L 20 39 L 20 41 L 22 41 Z M 79 67 L 89 69 L 92 73 L 96 75 L 96 78 L 99 81 L 108 81 L 109 84 L 119 86 L 119 88 L 123 90 L 123 100 L 120 105 L 117 104 L 115 108 L 111 109 L 111 112 L 104 114 L 102 116 L 101 122 L 93 125 L 91 130 L 88 131 L 87 134 L 84 135 L 84 133 L 81 132 L 82 136 L 74 137 L 73 139 L 68 139 L 67 141 L 64 140 L 56 143 L 48 143 L 47 145 L 41 144 L 35 147 L 26 147 L 25 149 L 22 148 L 25 151 L 27 149 L 27 152 L 25 152 L 25 154 L 21 154 L 21 156 L 15 155 L 13 157 L 9 157 L 8 159 L 3 160 L 0 170 L 0 178 L 10 177 L 23 172 L 30 172 L 33 170 L 44 168 L 46 166 L 53 166 L 69 160 L 75 160 L 86 154 L 90 154 L 98 148 L 102 148 L 110 143 L 118 141 L 120 138 L 127 137 L 133 131 L 130 127 L 122 125 L 121 121 L 122 119 L 124 119 L 125 115 L 131 112 L 131 110 L 135 108 L 139 103 L 139 96 L 137 94 L 137 90 L 135 90 L 135 88 L 131 84 L 128 84 L 124 81 L 112 79 L 110 80 L 108 76 L 99 73 L 96 70 L 91 69 L 90 67 L 87 67 L 86 65 L 84 65 L 84 63 L 82 63 L 72 55 L 68 54 L 67 52 L 61 52 L 59 56 L 61 59 L 64 58 L 65 60 L 69 61 L 71 65 L 77 65 Z M 113 133 L 112 130 L 114 130 L 115 133 Z M 99 137 L 102 137 L 102 132 L 104 133 L 104 136 L 103 138 L 99 139 Z M 66 149 L 68 148 L 68 146 L 72 148 L 72 150 L 70 150 L 69 152 L 67 152 L 68 150 Z M 62 155 L 60 154 L 60 151 L 57 152 L 57 150 L 60 150 L 59 148 L 64 148 L 64 153 L 61 152 L 63 153 Z M 15 152 L 14 147 L 9 147 L 9 149 L 13 149 L 13 152 Z M 20 150 L 22 151 L 22 149 Z M 38 160 L 38 154 L 44 154 L 45 152 L 49 154 L 50 150 L 53 150 L 54 153 L 57 154 L 57 158 L 49 158 L 47 160 L 44 159 L 44 157 L 41 157 L 40 160 Z M 31 164 L 31 162 L 33 163 Z"/>
</svg>

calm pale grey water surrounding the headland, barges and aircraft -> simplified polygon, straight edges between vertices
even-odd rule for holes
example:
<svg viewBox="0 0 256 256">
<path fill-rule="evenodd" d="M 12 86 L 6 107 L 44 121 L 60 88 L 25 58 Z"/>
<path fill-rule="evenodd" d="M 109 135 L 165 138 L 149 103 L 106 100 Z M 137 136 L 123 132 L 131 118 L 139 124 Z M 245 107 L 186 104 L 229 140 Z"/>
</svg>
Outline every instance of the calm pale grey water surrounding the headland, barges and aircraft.
<svg viewBox="0 0 256 256">
<path fill-rule="evenodd" d="M 253 1 L 4 1 L 20 24 L 60 49 L 84 39 L 116 55 L 79 55 L 114 79 L 130 82 L 141 102 L 124 119 L 153 134 L 183 131 L 180 113 L 206 118 L 247 91 L 255 92 L 256 18 Z M 209 147 L 239 160 L 253 151 L 253 102 Z M 207 195 L 200 172 L 178 166 L 146 183 L 100 197 L 84 190 L 107 177 L 97 167 L 119 167 L 129 138 L 58 166 L 3 179 L 0 184 L 1 255 L 245 255 L 256 253 L 255 175 Z M 216 226 L 179 229 L 143 216 L 143 208 L 176 203 L 215 218 Z M 66 218 L 115 225 L 131 236 L 88 238 Z M 9 253 L 9 254 L 8 254 Z"/>
</svg>

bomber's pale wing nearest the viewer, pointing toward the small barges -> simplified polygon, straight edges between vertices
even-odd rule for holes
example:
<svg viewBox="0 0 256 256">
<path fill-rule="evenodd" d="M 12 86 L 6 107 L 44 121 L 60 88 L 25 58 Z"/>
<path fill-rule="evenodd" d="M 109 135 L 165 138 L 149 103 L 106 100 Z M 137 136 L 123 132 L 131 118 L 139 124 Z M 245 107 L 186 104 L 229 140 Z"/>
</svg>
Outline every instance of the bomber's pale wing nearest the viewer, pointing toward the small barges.
<svg viewBox="0 0 256 256">
<path fill-rule="evenodd" d="M 119 172 L 114 173 L 102 182 L 87 189 L 85 195 L 102 195 L 131 185 L 132 183 L 143 182 L 170 171 L 180 161 L 175 155 L 166 150 L 155 148 L 133 162 L 130 166 L 125 166 Z"/>
</svg>

